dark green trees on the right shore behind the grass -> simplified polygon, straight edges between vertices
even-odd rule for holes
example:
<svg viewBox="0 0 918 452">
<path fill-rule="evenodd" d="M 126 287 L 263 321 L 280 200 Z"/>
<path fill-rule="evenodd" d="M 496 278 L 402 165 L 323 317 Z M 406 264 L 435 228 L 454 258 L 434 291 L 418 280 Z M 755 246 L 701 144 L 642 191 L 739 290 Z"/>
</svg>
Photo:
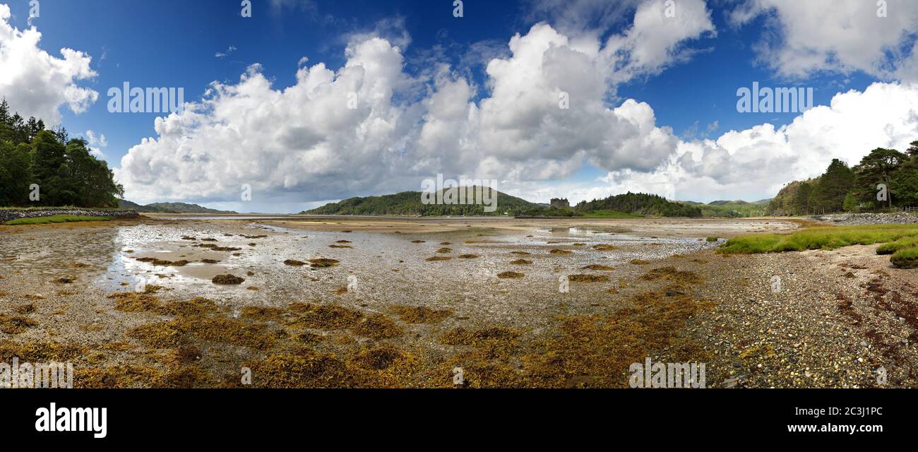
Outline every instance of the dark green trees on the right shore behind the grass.
<svg viewBox="0 0 918 452">
<path fill-rule="evenodd" d="M 883 190 L 879 185 L 886 187 L 885 197 L 878 197 Z M 833 159 L 823 175 L 781 188 L 768 213 L 812 215 L 905 206 L 918 206 L 918 141 L 904 153 L 874 149 L 850 168 Z"/>
</svg>

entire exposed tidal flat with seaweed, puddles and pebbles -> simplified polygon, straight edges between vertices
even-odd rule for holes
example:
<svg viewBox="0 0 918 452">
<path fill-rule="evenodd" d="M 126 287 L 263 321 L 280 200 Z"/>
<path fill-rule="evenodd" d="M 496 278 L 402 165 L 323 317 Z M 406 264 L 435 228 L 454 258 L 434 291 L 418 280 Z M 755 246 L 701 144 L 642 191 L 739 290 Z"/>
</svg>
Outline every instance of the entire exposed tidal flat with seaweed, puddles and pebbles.
<svg viewBox="0 0 918 452">
<path fill-rule="evenodd" d="M 914 384 L 914 277 L 874 262 L 873 247 L 716 252 L 799 227 L 199 215 L 0 226 L 0 360 L 73 362 L 84 388 L 627 388 L 645 357 L 707 363 L 708 387 L 876 386 L 878 367 L 890 386 Z"/>
</svg>

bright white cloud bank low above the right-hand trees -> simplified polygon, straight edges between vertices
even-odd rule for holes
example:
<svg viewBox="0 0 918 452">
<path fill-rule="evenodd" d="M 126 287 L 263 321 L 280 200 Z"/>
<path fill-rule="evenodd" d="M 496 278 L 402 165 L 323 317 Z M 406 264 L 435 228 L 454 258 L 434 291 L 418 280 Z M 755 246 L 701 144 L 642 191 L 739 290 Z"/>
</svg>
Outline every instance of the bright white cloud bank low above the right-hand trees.
<svg viewBox="0 0 918 452">
<path fill-rule="evenodd" d="M 684 199 L 767 198 L 791 180 L 822 174 L 834 158 L 854 165 L 875 148 L 905 150 L 914 140 L 918 85 L 878 82 L 779 128 L 766 123 L 680 142 L 674 182 Z"/>
</svg>

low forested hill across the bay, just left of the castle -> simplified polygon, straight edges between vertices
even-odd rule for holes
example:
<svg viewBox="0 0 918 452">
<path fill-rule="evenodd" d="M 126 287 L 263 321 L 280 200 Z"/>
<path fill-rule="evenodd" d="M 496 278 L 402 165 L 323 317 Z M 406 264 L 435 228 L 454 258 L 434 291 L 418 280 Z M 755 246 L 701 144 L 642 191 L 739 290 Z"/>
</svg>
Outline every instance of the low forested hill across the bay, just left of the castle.
<svg viewBox="0 0 918 452">
<path fill-rule="evenodd" d="M 497 190 L 495 190 L 497 191 Z M 305 210 L 309 215 L 515 215 L 523 210 L 544 206 L 497 191 L 497 210 L 486 212 L 482 204 L 423 204 L 420 191 L 405 191 L 380 197 L 347 198 L 318 209 Z"/>
</svg>

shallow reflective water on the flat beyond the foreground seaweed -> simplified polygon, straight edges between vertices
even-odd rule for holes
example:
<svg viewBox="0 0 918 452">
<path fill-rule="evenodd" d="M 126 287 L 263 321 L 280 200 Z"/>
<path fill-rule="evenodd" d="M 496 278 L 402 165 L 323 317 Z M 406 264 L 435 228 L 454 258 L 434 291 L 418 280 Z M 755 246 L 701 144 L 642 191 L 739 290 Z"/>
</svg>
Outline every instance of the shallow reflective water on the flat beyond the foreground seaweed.
<svg viewBox="0 0 918 452">
<path fill-rule="evenodd" d="M 529 318 L 533 312 L 556 311 L 559 300 L 577 305 L 608 299 L 604 290 L 610 283 L 572 283 L 569 292 L 560 293 L 560 277 L 592 273 L 609 275 L 611 281 L 616 281 L 644 271 L 641 266 L 628 264 L 633 259 L 655 260 L 716 245 L 700 238 L 651 238 L 621 231 L 627 230 L 532 227 L 508 231 L 479 227 L 427 233 L 315 232 L 265 224 L 263 219 L 198 220 L 22 230 L 0 243 L 0 255 L 7 257 L 4 265 L 14 270 L 38 271 L 49 279 L 76 276 L 78 281 L 91 281 L 105 293 L 136 288 L 142 283 L 162 286 L 169 298 L 201 296 L 240 309 L 247 304 L 285 306 L 292 301 L 315 299 L 352 303 L 366 311 L 383 311 L 391 304 L 423 304 L 451 308 L 460 317 L 526 323 L 533 322 Z M 336 243 L 341 240 L 351 243 Z M 206 243 L 240 250 L 212 251 L 195 246 Z M 604 252 L 590 247 L 598 243 L 621 248 Z M 331 244 L 353 248 L 330 248 Z M 442 247 L 453 251 L 436 253 Z M 550 254 L 555 248 L 573 253 Z M 510 254 L 511 251 L 531 255 Z M 460 254 L 478 257 L 463 259 L 457 257 Z M 427 261 L 431 256 L 453 258 Z M 186 266 L 154 266 L 140 262 L 140 257 L 192 262 Z M 341 263 L 318 269 L 284 264 L 286 259 L 305 262 L 319 257 Z M 532 261 L 532 265 L 509 264 L 520 257 Z M 219 262 L 205 264 L 199 262 L 202 259 Z M 86 266 L 77 268 L 74 264 L 78 263 Z M 616 270 L 581 269 L 591 264 L 614 266 Z M 508 270 L 524 273 L 525 277 L 497 277 Z M 238 286 L 213 284 L 211 278 L 220 274 L 244 277 L 245 281 Z M 247 289 L 250 286 L 258 290 Z M 340 288 L 349 289 L 347 293 L 333 293 Z"/>
</svg>

